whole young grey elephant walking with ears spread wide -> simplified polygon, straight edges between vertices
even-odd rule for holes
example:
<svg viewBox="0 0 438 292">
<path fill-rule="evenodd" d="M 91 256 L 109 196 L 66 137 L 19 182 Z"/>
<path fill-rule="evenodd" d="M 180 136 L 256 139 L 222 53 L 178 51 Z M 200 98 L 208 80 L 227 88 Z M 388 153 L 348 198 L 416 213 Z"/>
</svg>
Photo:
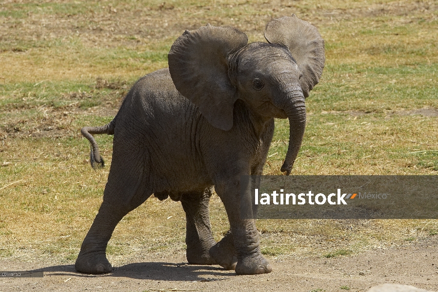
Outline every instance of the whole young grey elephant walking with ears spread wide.
<svg viewBox="0 0 438 292">
<path fill-rule="evenodd" d="M 190 264 L 218 264 L 236 274 L 270 273 L 255 219 L 239 214 L 241 175 L 261 175 L 274 118 L 289 119 L 281 172 L 289 175 L 306 125 L 305 98 L 319 82 L 324 40 L 292 15 L 266 25 L 267 42 L 248 43 L 232 27 L 185 31 L 169 68 L 141 77 L 105 126 L 84 127 L 93 168 L 104 165 L 93 134 L 114 135 L 103 201 L 75 263 L 78 272 L 112 271 L 106 246 L 118 222 L 152 194 L 181 201 Z M 230 230 L 216 242 L 209 200 L 224 204 Z M 255 211 L 254 211 L 255 212 Z"/>
</svg>

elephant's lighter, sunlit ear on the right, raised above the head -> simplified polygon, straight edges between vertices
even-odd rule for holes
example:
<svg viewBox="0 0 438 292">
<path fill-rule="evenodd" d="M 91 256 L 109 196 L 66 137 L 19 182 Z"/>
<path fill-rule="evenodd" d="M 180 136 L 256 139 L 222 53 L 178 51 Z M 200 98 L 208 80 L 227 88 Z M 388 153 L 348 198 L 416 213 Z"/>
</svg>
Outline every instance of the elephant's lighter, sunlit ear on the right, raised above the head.
<svg viewBox="0 0 438 292">
<path fill-rule="evenodd" d="M 317 28 L 295 14 L 273 19 L 266 25 L 265 38 L 269 43 L 286 46 L 301 70 L 301 89 L 304 97 L 318 84 L 324 68 L 324 40 Z"/>
</svg>

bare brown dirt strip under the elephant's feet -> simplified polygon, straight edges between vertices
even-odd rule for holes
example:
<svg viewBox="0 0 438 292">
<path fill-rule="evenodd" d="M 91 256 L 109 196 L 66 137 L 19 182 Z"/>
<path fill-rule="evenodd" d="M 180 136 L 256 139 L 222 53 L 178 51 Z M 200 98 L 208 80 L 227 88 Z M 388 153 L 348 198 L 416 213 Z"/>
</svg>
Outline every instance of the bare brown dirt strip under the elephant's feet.
<svg viewBox="0 0 438 292">
<path fill-rule="evenodd" d="M 150 256 L 104 275 L 79 274 L 73 263 L 0 261 L 2 271 L 44 271 L 41 278 L 1 278 L 0 291 L 367 291 L 382 283 L 438 291 L 438 236 L 411 246 L 355 256 L 270 259 L 270 274 L 237 276 L 219 266 L 188 265 L 184 256 Z"/>
</svg>

